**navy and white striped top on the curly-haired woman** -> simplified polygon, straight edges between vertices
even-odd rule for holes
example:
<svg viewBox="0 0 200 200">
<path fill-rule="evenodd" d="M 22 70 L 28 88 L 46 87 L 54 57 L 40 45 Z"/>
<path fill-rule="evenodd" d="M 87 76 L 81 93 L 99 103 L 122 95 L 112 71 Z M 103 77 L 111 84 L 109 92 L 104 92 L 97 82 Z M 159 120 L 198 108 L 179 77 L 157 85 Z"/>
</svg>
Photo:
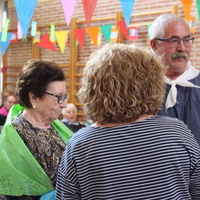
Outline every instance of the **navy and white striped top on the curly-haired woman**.
<svg viewBox="0 0 200 200">
<path fill-rule="evenodd" d="M 163 116 L 86 127 L 66 147 L 56 190 L 57 200 L 199 200 L 200 147 Z"/>
</svg>

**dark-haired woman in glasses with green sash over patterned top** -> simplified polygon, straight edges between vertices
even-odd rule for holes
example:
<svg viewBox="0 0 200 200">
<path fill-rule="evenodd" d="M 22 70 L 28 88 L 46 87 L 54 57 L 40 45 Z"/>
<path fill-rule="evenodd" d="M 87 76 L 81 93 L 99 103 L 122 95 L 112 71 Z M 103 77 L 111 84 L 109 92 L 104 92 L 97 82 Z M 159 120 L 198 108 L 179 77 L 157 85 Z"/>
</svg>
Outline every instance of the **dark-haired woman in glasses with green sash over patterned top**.
<svg viewBox="0 0 200 200">
<path fill-rule="evenodd" d="M 29 60 L 16 93 L 19 104 L 0 135 L 0 193 L 20 200 L 53 197 L 61 155 L 73 134 L 58 120 L 68 98 L 64 72 L 54 62 Z"/>
</svg>

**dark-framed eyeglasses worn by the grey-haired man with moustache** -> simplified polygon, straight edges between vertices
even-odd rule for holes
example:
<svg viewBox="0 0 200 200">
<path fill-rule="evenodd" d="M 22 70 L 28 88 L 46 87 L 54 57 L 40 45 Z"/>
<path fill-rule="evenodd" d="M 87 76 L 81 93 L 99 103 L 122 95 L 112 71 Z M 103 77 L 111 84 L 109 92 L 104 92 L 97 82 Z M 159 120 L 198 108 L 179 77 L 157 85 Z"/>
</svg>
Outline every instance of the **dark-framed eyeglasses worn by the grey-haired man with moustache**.
<svg viewBox="0 0 200 200">
<path fill-rule="evenodd" d="M 155 40 L 159 41 L 167 41 L 171 47 L 177 47 L 181 40 L 186 47 L 190 47 L 194 42 L 194 37 L 185 37 L 183 39 L 179 37 L 172 37 L 172 38 L 154 38 Z"/>
</svg>

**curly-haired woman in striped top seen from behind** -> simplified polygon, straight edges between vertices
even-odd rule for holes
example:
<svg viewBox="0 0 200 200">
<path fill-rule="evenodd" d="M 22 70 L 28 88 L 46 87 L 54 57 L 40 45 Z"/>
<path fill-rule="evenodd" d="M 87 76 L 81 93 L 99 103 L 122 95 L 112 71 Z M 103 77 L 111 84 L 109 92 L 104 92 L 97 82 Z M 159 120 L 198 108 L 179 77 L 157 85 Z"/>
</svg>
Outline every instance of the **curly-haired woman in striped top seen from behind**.
<svg viewBox="0 0 200 200">
<path fill-rule="evenodd" d="M 63 154 L 56 199 L 200 199 L 200 147 L 178 119 L 158 116 L 164 66 L 151 50 L 110 43 L 94 52 L 78 97 L 95 123 Z"/>
</svg>

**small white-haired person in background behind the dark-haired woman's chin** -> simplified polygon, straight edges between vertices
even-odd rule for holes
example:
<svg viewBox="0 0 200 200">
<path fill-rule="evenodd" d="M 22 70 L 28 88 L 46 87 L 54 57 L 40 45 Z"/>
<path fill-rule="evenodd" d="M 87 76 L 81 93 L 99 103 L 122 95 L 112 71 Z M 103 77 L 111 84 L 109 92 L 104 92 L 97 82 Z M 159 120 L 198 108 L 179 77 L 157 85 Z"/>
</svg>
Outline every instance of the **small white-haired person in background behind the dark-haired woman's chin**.
<svg viewBox="0 0 200 200">
<path fill-rule="evenodd" d="M 77 121 L 77 108 L 74 104 L 68 103 L 66 108 L 62 109 L 63 119 L 61 120 L 74 133 L 85 127 L 84 124 Z"/>
</svg>

